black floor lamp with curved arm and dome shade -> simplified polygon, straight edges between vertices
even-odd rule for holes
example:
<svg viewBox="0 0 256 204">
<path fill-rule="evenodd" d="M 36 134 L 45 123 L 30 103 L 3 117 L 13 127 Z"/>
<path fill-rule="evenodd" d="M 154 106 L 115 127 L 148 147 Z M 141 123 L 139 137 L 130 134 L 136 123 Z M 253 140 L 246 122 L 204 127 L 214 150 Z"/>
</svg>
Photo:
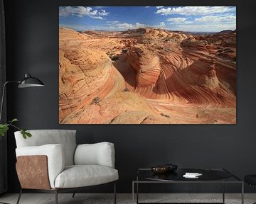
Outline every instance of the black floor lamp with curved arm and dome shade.
<svg viewBox="0 0 256 204">
<path fill-rule="evenodd" d="M 1 123 L 1 117 L 2 117 L 2 111 L 3 111 L 3 105 L 4 105 L 4 93 L 6 89 L 6 85 L 10 83 L 16 83 L 18 84 L 18 88 L 27 88 L 32 86 L 45 86 L 42 81 L 37 79 L 36 77 L 31 77 L 31 74 L 25 74 L 25 78 L 21 81 L 6 81 L 3 86 L 3 94 L 1 97 L 1 107 L 0 107 L 0 123 Z M 1 137 L 1 136 L 0 136 Z M 0 202 L 2 203 L 2 202 Z M 9 203 L 4 203 L 9 204 Z"/>
</svg>

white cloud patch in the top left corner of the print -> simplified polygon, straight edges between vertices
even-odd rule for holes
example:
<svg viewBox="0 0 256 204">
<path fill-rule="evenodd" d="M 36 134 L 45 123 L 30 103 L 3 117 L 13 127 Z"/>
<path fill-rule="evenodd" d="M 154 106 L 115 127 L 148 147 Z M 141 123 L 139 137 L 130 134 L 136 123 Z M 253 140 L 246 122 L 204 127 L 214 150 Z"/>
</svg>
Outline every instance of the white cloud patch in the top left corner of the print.
<svg viewBox="0 0 256 204">
<path fill-rule="evenodd" d="M 91 7 L 85 7 L 85 6 L 76 6 L 76 7 L 71 7 L 71 6 L 60 6 L 59 7 L 59 16 L 78 16 L 82 18 L 83 16 L 107 16 L 108 12 L 105 10 L 97 11 L 91 8 Z M 100 18 L 97 18 L 100 19 Z"/>
</svg>

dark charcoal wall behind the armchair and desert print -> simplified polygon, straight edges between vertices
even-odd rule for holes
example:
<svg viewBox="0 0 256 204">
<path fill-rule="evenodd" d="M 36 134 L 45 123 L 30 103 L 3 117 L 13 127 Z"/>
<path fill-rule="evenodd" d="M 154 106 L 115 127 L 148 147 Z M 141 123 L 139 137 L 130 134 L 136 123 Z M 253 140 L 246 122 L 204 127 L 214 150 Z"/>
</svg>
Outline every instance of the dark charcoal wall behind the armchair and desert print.
<svg viewBox="0 0 256 204">
<path fill-rule="evenodd" d="M 118 2 L 118 3 L 117 3 Z M 255 159 L 255 7 L 238 1 L 207 1 L 208 6 L 238 6 L 238 124 L 237 125 L 59 125 L 58 124 L 58 6 L 207 6 L 206 1 L 14 1 L 6 0 L 7 77 L 28 72 L 46 87 L 8 87 L 8 118 L 27 129 L 75 129 L 78 143 L 114 142 L 119 193 L 132 191 L 138 167 L 173 162 L 180 167 L 225 168 L 241 178 L 256 173 Z M 9 192 L 19 188 L 15 171 L 15 141 L 9 131 Z M 110 192 L 90 188 L 87 192 Z M 166 186 L 147 188 L 164 191 Z M 176 186 L 172 190 L 188 190 Z M 207 191 L 202 187 L 193 190 Z M 207 188 L 218 191 L 218 188 Z M 232 188 L 233 189 L 233 188 Z M 145 190 L 145 191 L 146 191 Z M 234 191 L 238 191 L 234 188 Z M 255 188 L 246 188 L 254 191 Z M 167 191 L 167 190 L 166 190 Z"/>
</svg>

